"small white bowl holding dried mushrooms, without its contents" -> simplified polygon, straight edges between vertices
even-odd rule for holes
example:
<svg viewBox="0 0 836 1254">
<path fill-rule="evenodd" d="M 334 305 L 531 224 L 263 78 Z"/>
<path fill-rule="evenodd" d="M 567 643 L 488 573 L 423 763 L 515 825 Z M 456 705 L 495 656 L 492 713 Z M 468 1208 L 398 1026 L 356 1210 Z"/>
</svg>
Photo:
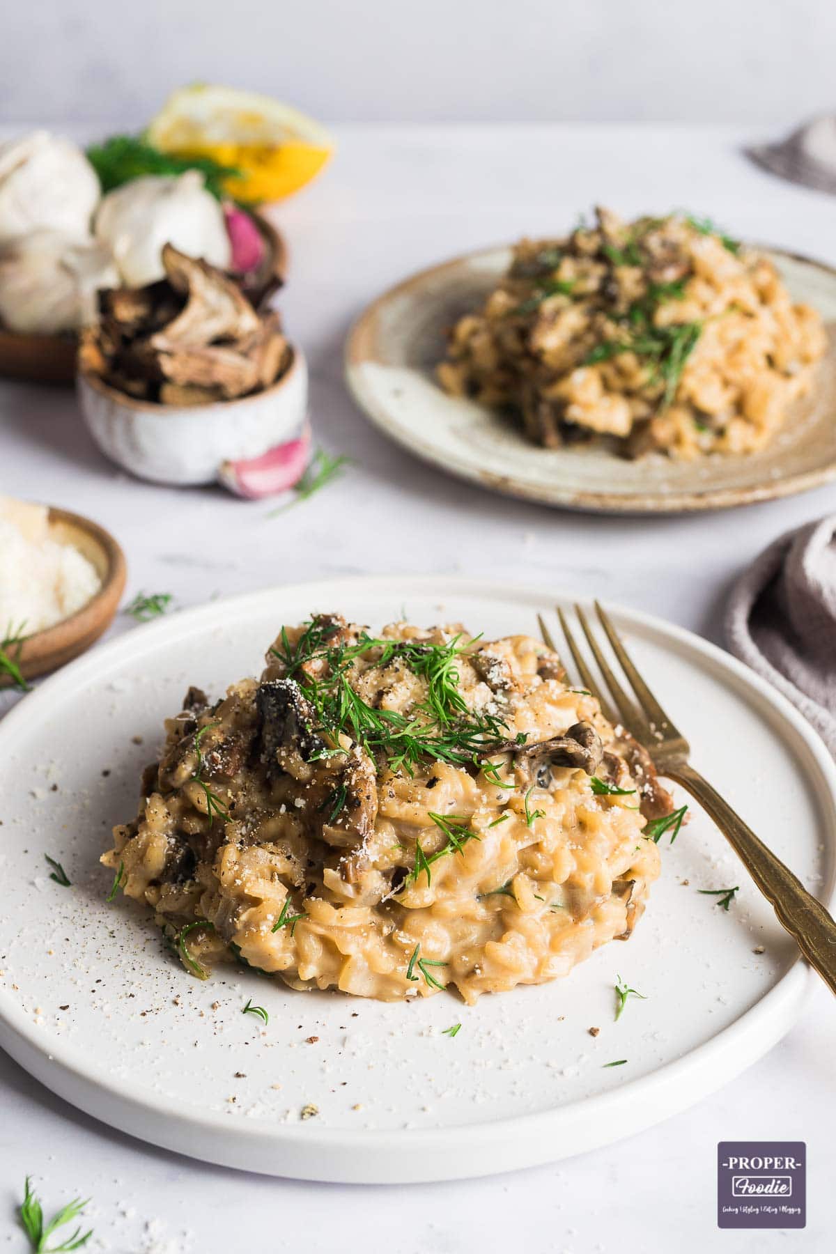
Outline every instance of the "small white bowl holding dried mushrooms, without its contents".
<svg viewBox="0 0 836 1254">
<path fill-rule="evenodd" d="M 222 463 L 259 458 L 296 440 L 307 415 L 307 364 L 300 349 L 266 391 L 213 405 L 135 400 L 97 375 L 79 372 L 84 420 L 105 456 L 139 479 L 214 483 Z"/>
</svg>

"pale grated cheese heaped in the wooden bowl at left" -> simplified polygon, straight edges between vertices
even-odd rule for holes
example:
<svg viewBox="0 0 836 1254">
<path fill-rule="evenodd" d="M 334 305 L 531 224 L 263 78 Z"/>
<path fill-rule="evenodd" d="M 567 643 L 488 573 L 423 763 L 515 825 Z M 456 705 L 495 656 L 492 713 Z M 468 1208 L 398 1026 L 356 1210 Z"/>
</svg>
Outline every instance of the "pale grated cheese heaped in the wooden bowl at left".
<svg viewBox="0 0 836 1254">
<path fill-rule="evenodd" d="M 0 631 L 25 623 L 31 636 L 53 627 L 100 587 L 93 563 L 50 535 L 45 505 L 0 497 Z"/>
</svg>

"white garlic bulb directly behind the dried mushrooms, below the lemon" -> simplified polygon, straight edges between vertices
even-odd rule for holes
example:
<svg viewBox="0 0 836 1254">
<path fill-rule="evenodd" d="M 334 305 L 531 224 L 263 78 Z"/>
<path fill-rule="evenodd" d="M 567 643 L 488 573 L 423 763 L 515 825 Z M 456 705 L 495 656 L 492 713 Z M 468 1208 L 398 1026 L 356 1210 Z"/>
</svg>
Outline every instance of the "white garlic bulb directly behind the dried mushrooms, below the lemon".
<svg viewBox="0 0 836 1254">
<path fill-rule="evenodd" d="M 197 169 L 178 177 L 148 174 L 108 192 L 94 231 L 112 250 L 129 287 L 163 278 L 165 243 L 222 270 L 232 260 L 223 209 Z"/>
</svg>

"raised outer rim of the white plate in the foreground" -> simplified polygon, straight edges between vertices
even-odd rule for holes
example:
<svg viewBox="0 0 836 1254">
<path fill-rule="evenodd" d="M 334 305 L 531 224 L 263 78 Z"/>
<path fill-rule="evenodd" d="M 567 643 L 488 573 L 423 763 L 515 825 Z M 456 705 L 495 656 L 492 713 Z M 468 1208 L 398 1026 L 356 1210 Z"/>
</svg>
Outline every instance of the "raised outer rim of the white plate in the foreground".
<svg viewBox="0 0 836 1254">
<path fill-rule="evenodd" d="M 306 589 L 316 596 L 313 589 L 323 587 L 336 589 L 337 596 L 341 589 L 352 593 L 385 589 L 391 592 L 394 599 L 399 596 L 409 597 L 410 593 L 435 593 L 440 599 L 457 593 L 511 601 L 523 606 L 543 604 L 549 599 L 539 586 L 530 583 L 506 584 L 489 578 L 461 581 L 451 576 L 411 574 L 320 578 L 219 598 L 178 611 L 170 618 L 144 624 L 139 637 L 134 631 L 127 632 L 76 658 L 50 676 L 29 693 L 28 701 L 21 700 L 0 720 L 0 740 L 10 734 L 9 729 L 14 736 L 19 725 L 25 729 L 28 722 L 36 721 L 41 707 L 53 700 L 54 692 L 60 697 L 61 690 L 68 690 L 65 697 L 70 698 L 73 691 L 84 683 L 88 672 L 98 672 L 103 656 L 115 663 L 142 657 L 154 650 L 158 640 L 170 638 L 169 642 L 175 643 L 194 630 L 221 627 L 248 608 L 261 609 L 271 599 L 278 603 L 280 598 L 298 596 Z M 328 596 L 333 596 L 333 592 Z M 560 592 L 558 599 L 572 599 L 572 592 Z M 587 604 L 592 598 L 583 596 L 577 599 Z M 801 746 L 806 750 L 810 760 L 800 761 L 800 766 L 811 795 L 818 804 L 826 795 L 831 808 L 836 809 L 836 762 L 817 732 L 781 692 L 736 657 L 687 628 L 629 606 L 613 602 L 604 604 L 617 621 L 634 623 L 684 646 L 692 655 L 696 652 L 712 663 L 714 670 L 731 672 L 738 687 L 755 692 L 761 703 L 765 702 L 790 725 L 797 741 L 796 751 Z M 818 786 L 812 776 L 812 766 L 820 775 Z M 821 899 L 832 910 L 836 902 L 836 858 L 832 856 L 836 843 L 832 838 L 830 843 L 831 873 L 828 883 L 822 885 Z M 143 1092 L 138 1097 L 124 1077 L 95 1075 L 95 1060 L 89 1051 L 85 1055 L 81 1047 L 71 1042 L 46 1036 L 43 1027 L 34 1025 L 5 989 L 0 989 L 0 1046 L 30 1075 L 86 1115 L 144 1141 L 203 1161 L 267 1175 L 333 1183 L 396 1184 L 470 1179 L 555 1161 L 569 1154 L 595 1149 L 633 1135 L 691 1106 L 756 1062 L 793 1027 L 813 979 L 812 971 L 798 954 L 768 992 L 732 1023 L 702 1045 L 644 1076 L 564 1106 L 509 1115 L 490 1124 L 440 1129 L 347 1130 L 317 1127 L 307 1122 L 302 1130 L 298 1125 L 266 1120 L 236 1126 L 219 1112 L 202 1112 L 191 1104 L 170 1097 L 153 1092 Z M 717 1055 L 727 1056 L 719 1078 Z M 644 1107 L 644 1114 L 638 1119 L 637 1107 Z M 632 1120 L 624 1132 L 615 1126 L 622 1109 L 630 1110 Z M 607 1125 L 603 1135 L 600 1130 L 592 1131 L 602 1124 Z M 564 1134 L 565 1140 L 567 1126 L 573 1132 L 569 1146 L 560 1144 L 560 1134 Z M 613 1131 L 615 1135 L 612 1135 Z M 206 1134 L 212 1134 L 209 1144 L 204 1140 Z M 543 1147 L 543 1142 L 546 1142 L 546 1147 Z M 346 1155 L 346 1151 L 351 1151 L 351 1155 Z M 466 1151 L 466 1162 L 462 1161 L 461 1151 Z M 430 1159 L 437 1165 L 432 1166 L 427 1161 Z"/>
</svg>

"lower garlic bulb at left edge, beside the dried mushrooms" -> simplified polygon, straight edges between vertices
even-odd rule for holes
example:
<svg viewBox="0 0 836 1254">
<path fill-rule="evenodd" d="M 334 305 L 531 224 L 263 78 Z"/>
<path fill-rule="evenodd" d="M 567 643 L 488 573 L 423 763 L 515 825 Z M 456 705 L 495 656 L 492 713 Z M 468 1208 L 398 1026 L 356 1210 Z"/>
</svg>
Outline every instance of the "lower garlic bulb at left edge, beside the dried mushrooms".
<svg viewBox="0 0 836 1254">
<path fill-rule="evenodd" d="M 0 245 L 0 322 L 10 331 L 75 331 L 95 317 L 97 290 L 118 283 L 110 253 L 93 236 L 33 231 Z"/>
</svg>

